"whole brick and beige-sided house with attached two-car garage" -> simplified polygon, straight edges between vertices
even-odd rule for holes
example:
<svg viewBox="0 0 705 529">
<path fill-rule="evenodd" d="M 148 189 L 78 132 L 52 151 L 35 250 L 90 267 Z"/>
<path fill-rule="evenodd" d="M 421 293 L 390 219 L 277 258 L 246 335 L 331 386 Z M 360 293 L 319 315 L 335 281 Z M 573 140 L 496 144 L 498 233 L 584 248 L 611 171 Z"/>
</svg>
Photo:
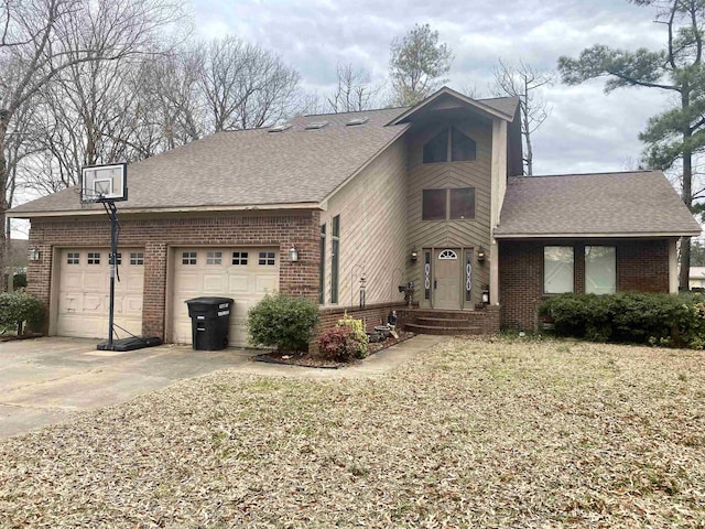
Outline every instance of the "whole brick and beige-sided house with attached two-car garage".
<svg viewBox="0 0 705 529">
<path fill-rule="evenodd" d="M 184 301 L 228 295 L 245 345 L 248 307 L 279 290 L 317 300 L 324 327 L 345 310 L 378 323 L 411 295 L 410 328 L 495 332 L 535 327 L 553 293 L 676 292 L 675 242 L 699 226 L 663 174 L 518 177 L 517 110 L 442 88 L 413 108 L 219 132 L 131 164 L 116 322 L 188 343 Z M 31 220 L 45 331 L 105 337 L 101 205 L 69 188 L 10 216 Z"/>
</svg>

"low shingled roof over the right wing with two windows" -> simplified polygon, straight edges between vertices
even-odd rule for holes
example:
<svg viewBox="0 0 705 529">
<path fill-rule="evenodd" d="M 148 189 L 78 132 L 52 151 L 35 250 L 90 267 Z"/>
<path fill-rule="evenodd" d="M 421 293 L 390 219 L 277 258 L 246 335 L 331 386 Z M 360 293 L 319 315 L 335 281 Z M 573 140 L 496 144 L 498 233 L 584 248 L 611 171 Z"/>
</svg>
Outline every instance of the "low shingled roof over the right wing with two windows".
<svg viewBox="0 0 705 529">
<path fill-rule="evenodd" d="M 510 179 L 497 238 L 698 235 L 661 171 Z"/>
</svg>

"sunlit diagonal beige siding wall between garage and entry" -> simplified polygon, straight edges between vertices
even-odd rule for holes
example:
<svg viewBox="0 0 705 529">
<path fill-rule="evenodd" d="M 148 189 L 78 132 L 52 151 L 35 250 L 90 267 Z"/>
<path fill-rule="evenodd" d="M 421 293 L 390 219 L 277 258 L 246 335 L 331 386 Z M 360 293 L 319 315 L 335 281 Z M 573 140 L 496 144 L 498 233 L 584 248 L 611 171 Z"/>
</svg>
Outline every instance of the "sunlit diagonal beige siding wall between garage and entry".
<svg viewBox="0 0 705 529">
<path fill-rule="evenodd" d="M 337 306 L 358 304 L 359 279 L 367 278 L 367 303 L 403 301 L 397 285 L 406 253 L 406 148 L 403 138 L 341 187 L 321 215 L 326 225 L 325 305 L 330 305 L 332 219 L 340 215 Z"/>
</svg>

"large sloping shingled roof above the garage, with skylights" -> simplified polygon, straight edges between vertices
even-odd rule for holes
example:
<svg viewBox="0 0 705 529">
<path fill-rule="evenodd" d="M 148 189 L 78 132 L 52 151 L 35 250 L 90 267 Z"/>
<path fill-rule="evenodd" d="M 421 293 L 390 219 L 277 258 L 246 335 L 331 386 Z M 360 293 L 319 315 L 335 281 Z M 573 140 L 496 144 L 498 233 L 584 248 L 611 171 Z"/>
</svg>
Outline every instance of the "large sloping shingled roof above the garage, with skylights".
<svg viewBox="0 0 705 529">
<path fill-rule="evenodd" d="M 318 203 L 409 127 L 384 127 L 405 109 L 304 116 L 283 132 L 219 132 L 128 166 L 129 199 L 120 209 L 172 209 Z M 351 118 L 368 117 L 347 127 Z M 328 121 L 305 130 L 312 121 Z M 96 207 L 96 206 L 94 206 Z M 78 210 L 76 188 L 12 209 Z"/>
</svg>

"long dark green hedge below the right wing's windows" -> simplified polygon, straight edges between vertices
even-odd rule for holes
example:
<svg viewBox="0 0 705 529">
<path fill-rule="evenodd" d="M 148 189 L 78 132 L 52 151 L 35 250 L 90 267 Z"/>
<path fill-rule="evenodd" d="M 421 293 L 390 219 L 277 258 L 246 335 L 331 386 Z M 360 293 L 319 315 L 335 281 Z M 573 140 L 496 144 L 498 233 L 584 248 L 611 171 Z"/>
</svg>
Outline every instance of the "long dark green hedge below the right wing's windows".
<svg viewBox="0 0 705 529">
<path fill-rule="evenodd" d="M 705 345 L 705 303 L 699 294 L 561 294 L 544 302 L 540 314 L 554 322 L 556 334 L 593 342 Z"/>
</svg>

